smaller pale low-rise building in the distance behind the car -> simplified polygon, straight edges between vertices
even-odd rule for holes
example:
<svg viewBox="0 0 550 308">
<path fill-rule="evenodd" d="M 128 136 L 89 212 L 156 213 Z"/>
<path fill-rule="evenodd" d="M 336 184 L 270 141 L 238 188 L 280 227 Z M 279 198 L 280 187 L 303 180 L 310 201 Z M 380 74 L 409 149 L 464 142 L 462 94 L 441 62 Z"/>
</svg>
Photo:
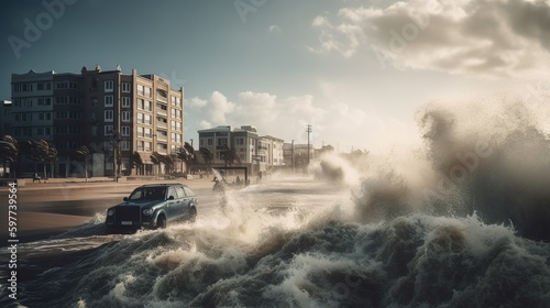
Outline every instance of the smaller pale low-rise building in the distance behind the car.
<svg viewBox="0 0 550 308">
<path fill-rule="evenodd" d="M 241 164 L 250 166 L 252 173 L 280 167 L 285 164 L 284 141 L 270 135 L 258 135 L 257 130 L 252 125 L 243 125 L 233 130 L 230 125 L 220 125 L 200 130 L 198 134 L 199 146 L 210 151 L 213 155 L 213 165 L 224 165 L 222 152 L 227 148 L 226 146 L 233 148 Z"/>
</svg>

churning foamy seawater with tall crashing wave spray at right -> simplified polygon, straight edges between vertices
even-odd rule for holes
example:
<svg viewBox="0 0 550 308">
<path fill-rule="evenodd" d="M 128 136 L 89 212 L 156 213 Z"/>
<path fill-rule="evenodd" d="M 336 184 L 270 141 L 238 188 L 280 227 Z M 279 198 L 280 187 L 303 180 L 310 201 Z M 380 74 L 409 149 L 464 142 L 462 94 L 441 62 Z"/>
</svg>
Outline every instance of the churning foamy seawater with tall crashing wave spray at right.
<svg viewBox="0 0 550 308">
<path fill-rule="evenodd" d="M 492 108 L 429 106 L 422 146 L 318 157 L 308 176 L 227 191 L 194 224 L 106 234 L 98 213 L 25 243 L 18 302 L 550 307 L 548 131 L 521 102 Z"/>
</svg>

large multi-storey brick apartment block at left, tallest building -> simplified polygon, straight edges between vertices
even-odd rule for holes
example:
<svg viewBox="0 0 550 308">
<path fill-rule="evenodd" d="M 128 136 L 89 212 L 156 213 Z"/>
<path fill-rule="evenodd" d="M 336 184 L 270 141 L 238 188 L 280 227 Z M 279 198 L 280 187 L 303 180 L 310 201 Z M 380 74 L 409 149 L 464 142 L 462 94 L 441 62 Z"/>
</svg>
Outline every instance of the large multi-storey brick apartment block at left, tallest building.
<svg viewBox="0 0 550 308">
<path fill-rule="evenodd" d="M 18 141 L 41 139 L 58 151 L 55 176 L 81 175 L 75 151 L 86 145 L 91 152 L 92 176 L 112 176 L 116 160 L 122 175 L 155 173 L 153 152 L 168 155 L 184 146 L 184 89 L 157 75 L 122 74 L 120 67 L 102 70 L 82 67 L 80 74 L 12 74 L 11 103 L 0 108 L 2 134 Z M 132 168 L 138 152 L 143 165 Z M 35 164 L 21 162 L 21 172 Z"/>
</svg>

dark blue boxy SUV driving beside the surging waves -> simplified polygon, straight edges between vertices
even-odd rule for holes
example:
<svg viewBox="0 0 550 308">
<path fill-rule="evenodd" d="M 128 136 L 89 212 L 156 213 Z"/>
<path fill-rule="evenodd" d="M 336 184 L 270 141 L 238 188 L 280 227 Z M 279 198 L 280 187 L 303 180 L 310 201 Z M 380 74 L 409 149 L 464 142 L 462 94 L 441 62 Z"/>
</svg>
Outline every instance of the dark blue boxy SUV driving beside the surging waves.
<svg viewBox="0 0 550 308">
<path fill-rule="evenodd" d="M 109 228 L 166 228 L 172 221 L 191 221 L 197 217 L 197 196 L 184 184 L 143 185 L 107 210 Z"/>
</svg>

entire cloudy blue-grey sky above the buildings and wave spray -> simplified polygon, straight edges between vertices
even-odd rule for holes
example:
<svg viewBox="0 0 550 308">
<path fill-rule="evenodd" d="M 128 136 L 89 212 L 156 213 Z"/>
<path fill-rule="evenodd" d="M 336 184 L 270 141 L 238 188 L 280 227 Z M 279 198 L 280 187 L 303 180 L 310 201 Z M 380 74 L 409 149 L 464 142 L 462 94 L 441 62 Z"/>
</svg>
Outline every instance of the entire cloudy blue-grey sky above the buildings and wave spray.
<svg viewBox="0 0 550 308">
<path fill-rule="evenodd" d="M 11 74 L 82 66 L 185 89 L 185 140 L 217 125 L 339 152 L 417 143 L 428 103 L 532 92 L 547 0 L 43 0 L 1 2 Z M 546 79 L 547 80 L 547 79 Z"/>
</svg>

